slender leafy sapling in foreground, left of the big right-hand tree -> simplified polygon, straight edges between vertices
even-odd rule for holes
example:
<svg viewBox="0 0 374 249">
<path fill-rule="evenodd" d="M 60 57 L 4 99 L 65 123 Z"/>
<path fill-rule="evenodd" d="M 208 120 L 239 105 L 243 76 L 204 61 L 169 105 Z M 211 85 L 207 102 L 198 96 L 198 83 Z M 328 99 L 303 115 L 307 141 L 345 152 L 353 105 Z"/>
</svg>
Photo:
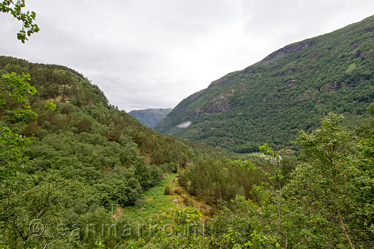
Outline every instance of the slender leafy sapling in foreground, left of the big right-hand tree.
<svg viewBox="0 0 374 249">
<path fill-rule="evenodd" d="M 232 166 L 248 168 L 250 173 L 260 171 L 267 177 L 267 180 L 261 182 L 260 185 L 252 186 L 252 194 L 257 196 L 258 202 L 246 200 L 243 196 L 236 196 L 234 201 L 236 206 L 252 219 L 247 242 L 241 245 L 235 244 L 234 248 L 296 249 L 302 245 L 308 235 L 306 230 L 294 229 L 293 221 L 298 219 L 295 219 L 287 208 L 283 193 L 281 156 L 267 144 L 259 148 L 261 153 L 270 156 L 269 164 L 260 166 L 242 160 L 229 162 Z"/>
</svg>

